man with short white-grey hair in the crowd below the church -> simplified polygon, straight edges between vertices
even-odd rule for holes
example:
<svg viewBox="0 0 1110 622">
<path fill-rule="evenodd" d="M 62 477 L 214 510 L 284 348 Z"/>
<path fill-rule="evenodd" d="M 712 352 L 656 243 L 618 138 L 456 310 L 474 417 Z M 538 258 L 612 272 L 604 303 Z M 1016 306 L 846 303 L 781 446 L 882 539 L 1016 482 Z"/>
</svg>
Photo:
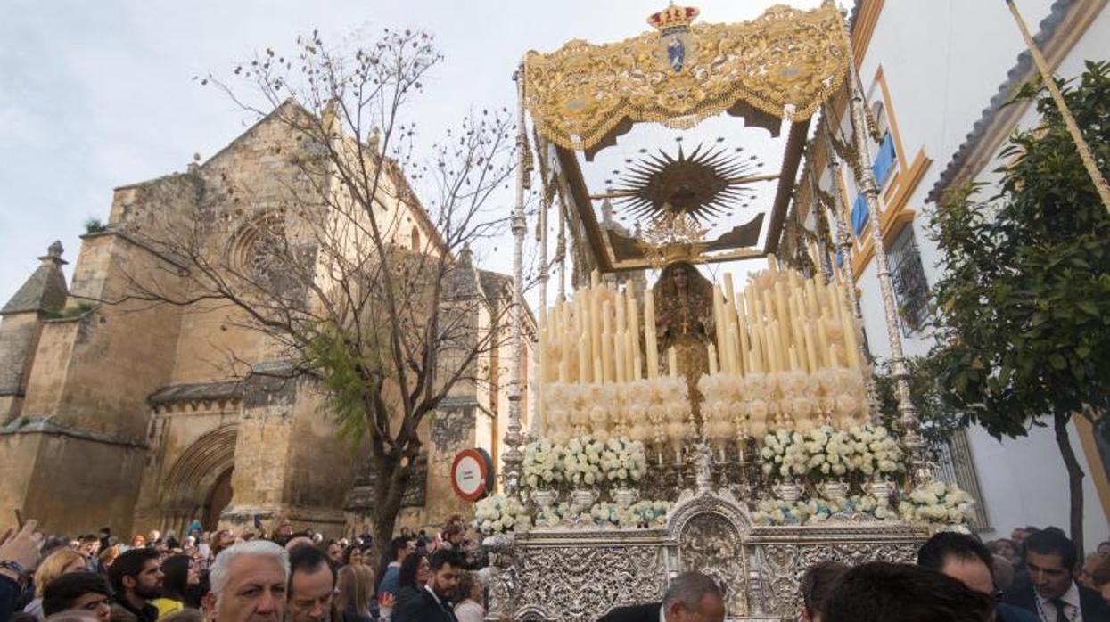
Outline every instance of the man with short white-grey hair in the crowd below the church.
<svg viewBox="0 0 1110 622">
<path fill-rule="evenodd" d="M 289 553 L 265 540 L 224 549 L 209 572 L 212 591 L 204 595 L 212 622 L 281 622 L 285 616 Z"/>
</svg>

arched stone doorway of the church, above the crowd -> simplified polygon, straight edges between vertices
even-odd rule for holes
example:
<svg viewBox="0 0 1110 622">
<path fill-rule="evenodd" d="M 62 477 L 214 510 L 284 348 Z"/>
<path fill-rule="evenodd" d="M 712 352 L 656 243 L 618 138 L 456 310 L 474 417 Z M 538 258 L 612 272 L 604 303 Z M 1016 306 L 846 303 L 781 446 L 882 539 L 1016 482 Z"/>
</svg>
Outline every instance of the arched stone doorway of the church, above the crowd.
<svg viewBox="0 0 1110 622">
<path fill-rule="evenodd" d="M 231 472 L 235 466 L 234 424 L 211 430 L 189 446 L 162 478 L 162 529 L 183 534 L 194 520 L 210 529 L 212 516 L 231 501 Z"/>
</svg>

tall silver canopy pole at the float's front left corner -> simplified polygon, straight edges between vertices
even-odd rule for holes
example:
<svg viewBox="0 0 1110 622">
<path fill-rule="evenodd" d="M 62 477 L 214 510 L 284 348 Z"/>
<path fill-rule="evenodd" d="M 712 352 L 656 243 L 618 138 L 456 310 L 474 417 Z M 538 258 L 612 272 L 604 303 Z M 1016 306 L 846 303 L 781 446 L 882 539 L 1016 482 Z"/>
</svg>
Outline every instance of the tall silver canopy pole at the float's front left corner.
<svg viewBox="0 0 1110 622">
<path fill-rule="evenodd" d="M 513 206 L 513 359 L 508 373 L 508 429 L 505 431 L 505 450 L 502 452 L 505 492 L 516 493 L 516 485 L 521 477 L 521 346 L 523 329 L 521 325 L 521 306 L 524 304 L 524 234 L 527 223 L 524 218 L 524 184 L 528 175 L 528 134 L 524 126 L 524 63 L 513 75 L 516 81 L 518 99 L 516 114 L 516 153 L 518 157 L 516 170 L 516 204 Z"/>
</svg>

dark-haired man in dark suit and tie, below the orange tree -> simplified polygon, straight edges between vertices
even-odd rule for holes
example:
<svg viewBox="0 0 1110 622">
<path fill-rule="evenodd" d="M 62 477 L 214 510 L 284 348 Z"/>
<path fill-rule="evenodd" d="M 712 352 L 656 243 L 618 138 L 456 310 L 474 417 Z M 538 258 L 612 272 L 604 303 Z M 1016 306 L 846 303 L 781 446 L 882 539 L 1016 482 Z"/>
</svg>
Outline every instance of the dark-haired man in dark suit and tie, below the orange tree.
<svg viewBox="0 0 1110 622">
<path fill-rule="evenodd" d="M 1006 602 L 1031 611 L 1042 622 L 1110 622 L 1110 605 L 1094 590 L 1076 583 L 1079 553 L 1063 531 L 1049 527 L 1023 544 L 1029 580 L 1015 583 Z"/>
</svg>

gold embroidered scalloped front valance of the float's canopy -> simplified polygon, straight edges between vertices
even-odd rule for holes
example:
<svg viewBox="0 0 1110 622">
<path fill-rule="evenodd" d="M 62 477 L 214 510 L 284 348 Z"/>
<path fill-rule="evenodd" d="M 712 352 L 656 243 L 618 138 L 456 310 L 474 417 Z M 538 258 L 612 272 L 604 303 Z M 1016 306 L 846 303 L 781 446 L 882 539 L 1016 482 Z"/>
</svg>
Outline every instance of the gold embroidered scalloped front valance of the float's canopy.
<svg viewBox="0 0 1110 622">
<path fill-rule="evenodd" d="M 844 20 L 826 0 L 801 11 L 776 4 L 740 23 L 689 27 L 680 69 L 660 58 L 660 35 L 617 43 L 573 40 L 525 58 L 524 103 L 539 133 L 586 150 L 624 119 L 692 126 L 746 102 L 803 121 L 842 82 L 848 69 Z"/>
</svg>

